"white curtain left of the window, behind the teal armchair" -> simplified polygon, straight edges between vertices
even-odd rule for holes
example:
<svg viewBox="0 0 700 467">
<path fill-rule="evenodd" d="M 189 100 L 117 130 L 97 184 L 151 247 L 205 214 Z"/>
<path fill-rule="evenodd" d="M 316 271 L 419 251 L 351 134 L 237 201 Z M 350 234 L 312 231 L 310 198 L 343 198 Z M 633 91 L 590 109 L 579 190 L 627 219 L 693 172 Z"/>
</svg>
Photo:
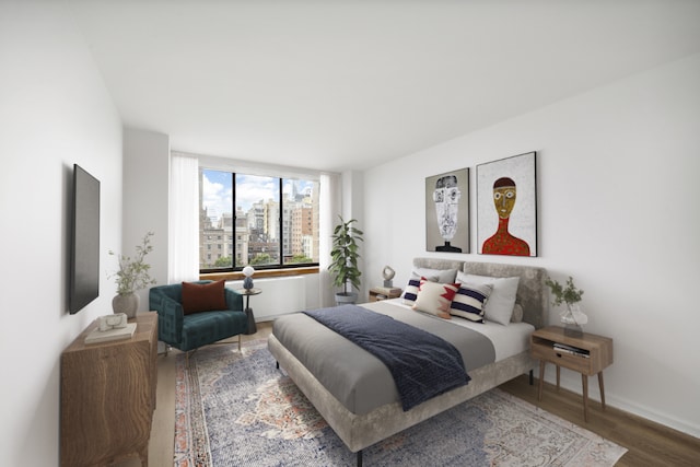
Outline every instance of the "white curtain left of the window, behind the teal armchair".
<svg viewBox="0 0 700 467">
<path fill-rule="evenodd" d="M 171 154 L 167 282 L 199 279 L 199 162 Z"/>
</svg>

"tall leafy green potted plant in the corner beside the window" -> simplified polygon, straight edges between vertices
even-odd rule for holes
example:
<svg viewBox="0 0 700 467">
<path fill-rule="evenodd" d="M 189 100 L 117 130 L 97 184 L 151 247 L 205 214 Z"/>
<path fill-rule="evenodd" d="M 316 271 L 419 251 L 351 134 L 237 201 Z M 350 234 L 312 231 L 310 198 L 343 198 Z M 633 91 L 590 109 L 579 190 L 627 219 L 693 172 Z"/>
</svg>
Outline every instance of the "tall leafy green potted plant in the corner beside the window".
<svg viewBox="0 0 700 467">
<path fill-rule="evenodd" d="M 336 303 L 355 303 L 358 294 L 352 289 L 360 290 L 360 277 L 362 272 L 358 268 L 360 258 L 358 242 L 363 242 L 361 230 L 353 226 L 355 219 L 343 221 L 332 231 L 332 248 L 330 249 L 330 266 L 328 271 L 332 275 L 332 284 L 342 287 L 342 292 L 336 293 Z"/>
</svg>

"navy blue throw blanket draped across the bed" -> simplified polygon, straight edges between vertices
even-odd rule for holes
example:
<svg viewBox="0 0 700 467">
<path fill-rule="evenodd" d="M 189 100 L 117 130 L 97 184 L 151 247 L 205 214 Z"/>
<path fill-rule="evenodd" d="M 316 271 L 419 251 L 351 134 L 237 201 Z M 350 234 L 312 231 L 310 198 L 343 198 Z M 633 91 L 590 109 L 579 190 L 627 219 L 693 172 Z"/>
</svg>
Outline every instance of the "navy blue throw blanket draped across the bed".
<svg viewBox="0 0 700 467">
<path fill-rule="evenodd" d="M 471 380 L 452 343 L 390 316 L 357 305 L 304 313 L 380 359 L 405 411 Z"/>
</svg>

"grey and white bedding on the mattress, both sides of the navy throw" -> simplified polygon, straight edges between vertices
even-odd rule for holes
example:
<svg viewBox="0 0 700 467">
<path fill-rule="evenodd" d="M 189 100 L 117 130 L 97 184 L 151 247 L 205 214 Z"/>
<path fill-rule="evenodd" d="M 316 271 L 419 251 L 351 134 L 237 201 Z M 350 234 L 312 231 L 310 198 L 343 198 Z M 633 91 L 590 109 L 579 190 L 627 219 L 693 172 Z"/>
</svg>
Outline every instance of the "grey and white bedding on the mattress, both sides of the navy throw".
<svg viewBox="0 0 700 467">
<path fill-rule="evenodd" d="M 457 317 L 446 320 L 415 312 L 400 299 L 362 306 L 441 336 L 459 350 L 467 373 L 526 351 L 534 330 L 524 323 L 502 326 Z M 363 415 L 399 400 L 394 380 L 378 359 L 310 316 L 282 316 L 275 322 L 272 334 L 349 411 Z"/>
</svg>

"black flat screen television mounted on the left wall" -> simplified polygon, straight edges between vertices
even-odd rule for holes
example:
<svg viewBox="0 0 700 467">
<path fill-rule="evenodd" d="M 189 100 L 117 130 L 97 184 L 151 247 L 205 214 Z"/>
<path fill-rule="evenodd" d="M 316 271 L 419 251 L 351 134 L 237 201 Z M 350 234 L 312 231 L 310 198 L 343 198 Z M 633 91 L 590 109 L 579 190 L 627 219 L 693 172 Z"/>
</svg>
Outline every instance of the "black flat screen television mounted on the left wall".
<svg viewBox="0 0 700 467">
<path fill-rule="evenodd" d="M 69 311 L 100 295 L 100 180 L 73 164 Z"/>
</svg>

